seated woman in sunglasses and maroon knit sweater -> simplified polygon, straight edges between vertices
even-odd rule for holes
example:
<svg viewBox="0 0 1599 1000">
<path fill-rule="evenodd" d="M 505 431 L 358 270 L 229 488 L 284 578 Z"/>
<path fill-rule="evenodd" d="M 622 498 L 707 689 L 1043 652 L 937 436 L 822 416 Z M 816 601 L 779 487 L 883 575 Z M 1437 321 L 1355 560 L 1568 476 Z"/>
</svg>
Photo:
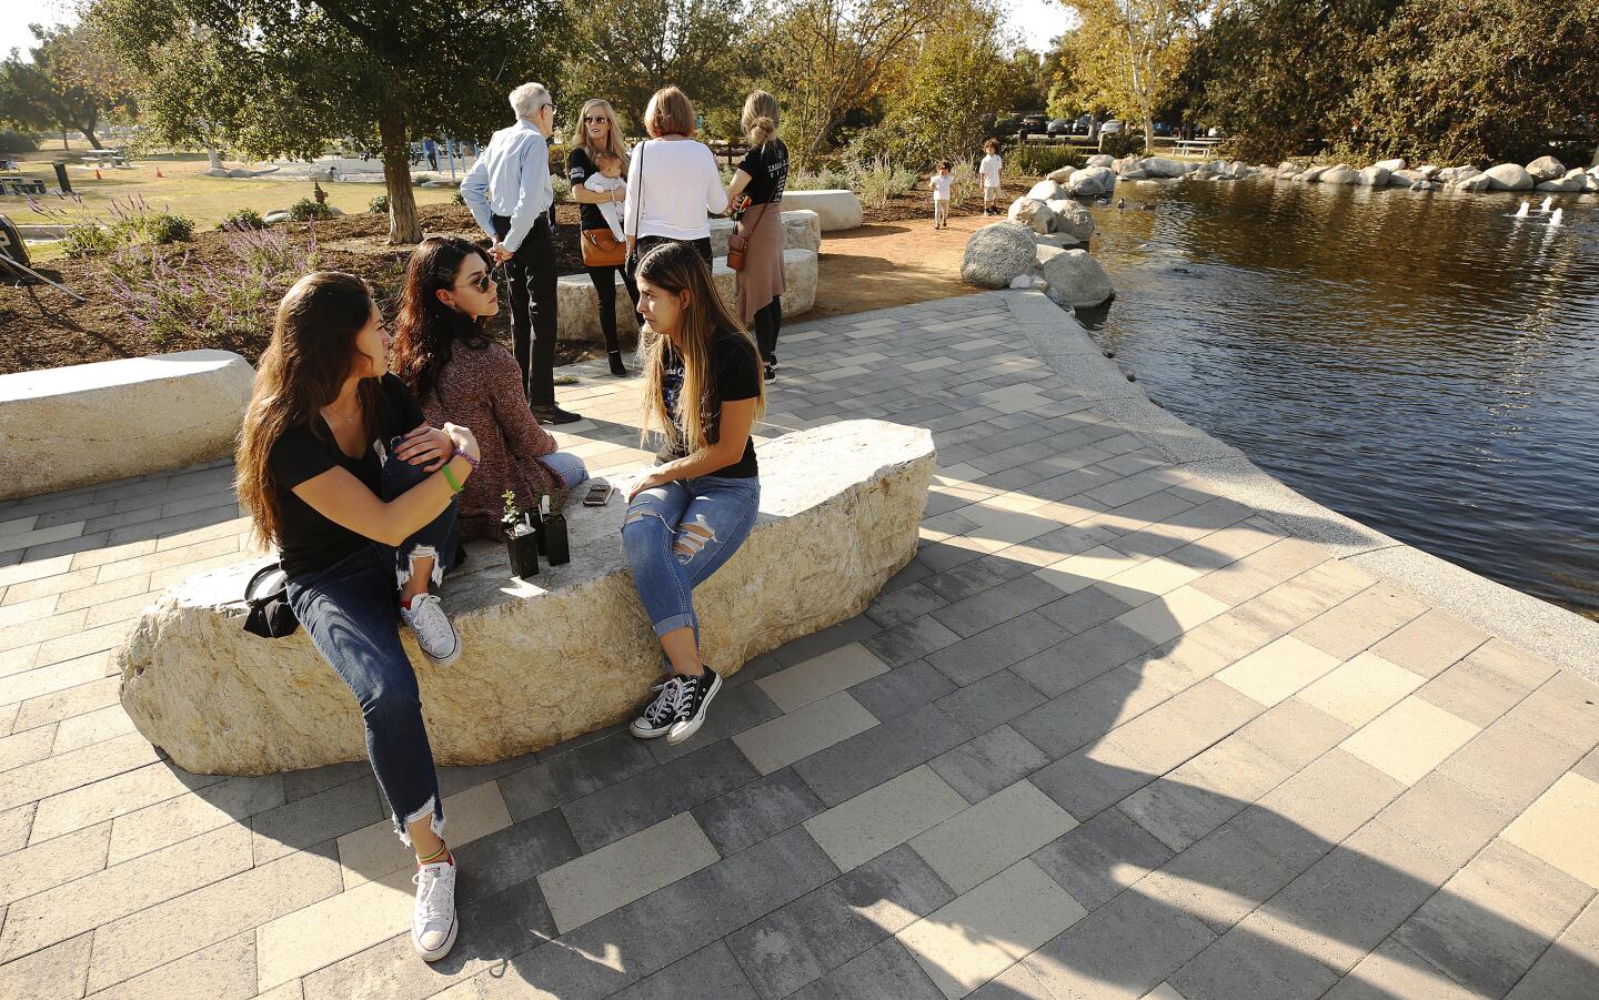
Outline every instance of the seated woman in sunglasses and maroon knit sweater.
<svg viewBox="0 0 1599 1000">
<path fill-rule="evenodd" d="M 484 329 L 496 313 L 499 286 L 483 248 L 459 236 L 417 244 L 405 273 L 393 371 L 429 420 L 477 433 L 478 471 L 459 498 L 465 540 L 499 537 L 505 490 L 523 510 L 540 495 L 560 508 L 566 492 L 588 478 L 584 460 L 556 450 L 555 438 L 528 412 L 516 359 Z"/>
</svg>

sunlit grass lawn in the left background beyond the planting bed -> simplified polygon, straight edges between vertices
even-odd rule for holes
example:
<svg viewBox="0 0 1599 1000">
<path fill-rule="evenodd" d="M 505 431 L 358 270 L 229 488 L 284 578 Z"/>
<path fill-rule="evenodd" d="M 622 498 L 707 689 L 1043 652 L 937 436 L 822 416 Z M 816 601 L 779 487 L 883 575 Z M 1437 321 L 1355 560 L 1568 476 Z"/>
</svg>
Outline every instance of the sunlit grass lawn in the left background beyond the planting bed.
<svg viewBox="0 0 1599 1000">
<path fill-rule="evenodd" d="M 24 174 L 43 177 L 50 188 L 56 187 L 56 173 L 51 163 L 67 158 L 78 163 L 78 157 L 86 150 L 86 144 L 70 152 L 46 149 L 34 153 L 14 157 L 21 161 Z M 163 176 L 157 177 L 157 169 Z M 169 211 L 189 216 L 195 220 L 195 228 L 214 228 L 229 212 L 241 208 L 253 208 L 262 214 L 288 208 L 301 198 L 312 196 L 310 181 L 235 181 L 224 177 L 201 177 L 206 169 L 206 158 L 193 153 L 168 153 L 149 160 L 136 160 L 128 169 L 101 169 L 101 179 L 93 171 L 77 166 L 67 168 L 72 190 L 82 196 L 82 206 L 74 200 L 58 200 L 50 195 L 40 198 L 51 209 L 66 209 L 74 216 L 90 216 L 94 219 L 110 217 L 114 198 L 126 201 L 142 196 L 155 211 Z M 323 184 L 328 193 L 328 204 L 345 212 L 365 212 L 374 195 L 384 193 L 381 184 Z M 416 190 L 417 204 L 448 203 L 454 192 L 441 187 L 419 187 Z M 56 222 L 54 217 L 38 216 L 29 209 L 26 198 L 0 196 L 0 214 L 11 217 L 19 225 Z M 56 256 L 54 244 L 29 244 L 29 254 L 37 260 L 50 260 Z"/>
</svg>

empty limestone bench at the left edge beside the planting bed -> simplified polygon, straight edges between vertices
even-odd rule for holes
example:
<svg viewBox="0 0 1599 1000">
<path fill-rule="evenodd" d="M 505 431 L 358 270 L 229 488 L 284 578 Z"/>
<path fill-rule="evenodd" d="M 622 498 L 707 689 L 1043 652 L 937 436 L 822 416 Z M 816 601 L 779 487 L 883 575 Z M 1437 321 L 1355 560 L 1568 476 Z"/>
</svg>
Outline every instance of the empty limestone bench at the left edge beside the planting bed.
<svg viewBox="0 0 1599 1000">
<path fill-rule="evenodd" d="M 221 458 L 254 377 L 214 350 L 0 375 L 0 500 Z"/>
</svg>

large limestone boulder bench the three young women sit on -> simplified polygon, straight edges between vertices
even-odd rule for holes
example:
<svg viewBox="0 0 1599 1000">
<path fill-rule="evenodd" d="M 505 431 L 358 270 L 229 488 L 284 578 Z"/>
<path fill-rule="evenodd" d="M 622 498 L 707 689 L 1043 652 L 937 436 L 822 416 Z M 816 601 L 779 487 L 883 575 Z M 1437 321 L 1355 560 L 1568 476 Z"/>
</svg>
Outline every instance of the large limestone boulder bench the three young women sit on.
<svg viewBox="0 0 1599 1000">
<path fill-rule="evenodd" d="M 924 428 L 851 420 L 760 446 L 761 513 L 696 594 L 705 660 L 747 660 L 865 610 L 916 553 L 932 479 Z M 433 754 L 486 764 L 628 719 L 659 681 L 660 647 L 622 553 L 627 505 L 568 510 L 572 561 L 510 577 L 477 543 L 443 596 L 464 655 L 437 668 L 409 636 Z M 120 653 L 122 704 L 195 773 L 262 775 L 363 759 L 355 698 L 305 629 L 243 631 L 261 561 L 192 577 L 146 609 Z"/>
</svg>

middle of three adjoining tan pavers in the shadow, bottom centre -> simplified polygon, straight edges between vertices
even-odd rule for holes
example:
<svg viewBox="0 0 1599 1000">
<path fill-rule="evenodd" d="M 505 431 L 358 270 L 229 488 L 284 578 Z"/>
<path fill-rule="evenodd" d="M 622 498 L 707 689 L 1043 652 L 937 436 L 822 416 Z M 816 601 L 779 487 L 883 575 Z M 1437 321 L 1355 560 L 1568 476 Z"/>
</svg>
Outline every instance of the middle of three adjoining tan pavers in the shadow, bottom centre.
<svg viewBox="0 0 1599 1000">
<path fill-rule="evenodd" d="M 911 839 L 956 893 L 975 888 L 1078 824 L 1028 781 L 995 792 Z"/>
</svg>

